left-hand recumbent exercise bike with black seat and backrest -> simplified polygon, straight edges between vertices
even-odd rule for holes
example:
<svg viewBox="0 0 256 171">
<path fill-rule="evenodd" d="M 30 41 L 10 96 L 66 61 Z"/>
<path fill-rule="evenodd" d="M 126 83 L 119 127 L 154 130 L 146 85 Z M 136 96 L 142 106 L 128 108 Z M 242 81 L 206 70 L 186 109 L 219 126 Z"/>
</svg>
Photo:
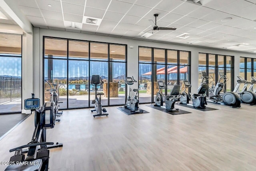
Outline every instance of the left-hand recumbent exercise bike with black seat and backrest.
<svg viewBox="0 0 256 171">
<path fill-rule="evenodd" d="M 166 85 L 164 84 L 164 82 L 162 80 L 159 80 L 157 82 L 157 84 L 158 84 L 159 90 L 156 93 L 156 99 L 155 99 L 154 106 L 162 107 L 162 108 L 166 109 L 166 111 L 179 110 L 179 109 L 174 108 L 174 104 L 180 98 L 181 85 L 173 85 L 172 90 L 170 91 L 170 95 L 165 96 L 165 106 L 164 106 L 164 99 L 163 99 L 164 95 L 163 95 L 163 93 L 161 93 L 161 90 L 166 89 Z"/>
</svg>

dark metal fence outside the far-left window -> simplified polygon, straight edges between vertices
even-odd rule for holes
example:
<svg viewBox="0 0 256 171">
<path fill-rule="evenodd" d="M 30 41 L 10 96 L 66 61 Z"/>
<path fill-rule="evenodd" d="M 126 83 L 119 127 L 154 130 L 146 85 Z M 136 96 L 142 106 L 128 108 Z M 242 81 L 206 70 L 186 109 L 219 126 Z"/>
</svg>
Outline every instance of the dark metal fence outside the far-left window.
<svg viewBox="0 0 256 171">
<path fill-rule="evenodd" d="M 0 77 L 0 103 L 21 97 L 21 78 Z"/>
</svg>

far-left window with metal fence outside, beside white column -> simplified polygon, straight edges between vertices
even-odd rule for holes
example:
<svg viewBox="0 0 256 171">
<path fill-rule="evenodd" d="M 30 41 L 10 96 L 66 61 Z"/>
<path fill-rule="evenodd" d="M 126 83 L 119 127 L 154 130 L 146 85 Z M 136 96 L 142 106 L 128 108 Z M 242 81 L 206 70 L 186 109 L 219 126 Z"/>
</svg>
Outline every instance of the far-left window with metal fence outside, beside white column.
<svg viewBox="0 0 256 171">
<path fill-rule="evenodd" d="M 0 113 L 21 112 L 22 36 L 0 33 Z"/>
</svg>

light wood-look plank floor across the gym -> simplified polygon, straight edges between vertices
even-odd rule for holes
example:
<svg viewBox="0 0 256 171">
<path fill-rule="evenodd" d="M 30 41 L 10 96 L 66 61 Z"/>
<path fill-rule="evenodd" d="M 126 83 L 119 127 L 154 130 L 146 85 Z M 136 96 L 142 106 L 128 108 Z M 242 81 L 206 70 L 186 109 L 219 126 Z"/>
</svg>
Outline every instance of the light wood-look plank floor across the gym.
<svg viewBox="0 0 256 171">
<path fill-rule="evenodd" d="M 129 116 L 116 107 L 97 118 L 89 109 L 64 111 L 47 130 L 47 141 L 64 144 L 50 150 L 50 171 L 256 170 L 256 106 L 176 107 L 192 113 L 170 115 L 146 105 L 140 108 L 150 113 Z M 9 149 L 28 143 L 33 131 L 30 116 L 0 141 L 0 161 L 9 161 Z"/>
</svg>

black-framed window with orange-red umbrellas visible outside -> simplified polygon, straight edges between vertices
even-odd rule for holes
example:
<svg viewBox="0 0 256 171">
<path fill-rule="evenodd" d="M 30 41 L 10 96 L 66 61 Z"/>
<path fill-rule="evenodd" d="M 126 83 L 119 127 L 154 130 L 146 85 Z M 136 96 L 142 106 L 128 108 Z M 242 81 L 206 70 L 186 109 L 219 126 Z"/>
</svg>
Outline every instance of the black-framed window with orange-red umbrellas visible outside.
<svg viewBox="0 0 256 171">
<path fill-rule="evenodd" d="M 173 85 L 190 81 L 190 52 L 139 47 L 140 103 L 154 102 L 159 80 L 166 84 L 166 89 L 162 90 L 165 95 Z"/>
</svg>

